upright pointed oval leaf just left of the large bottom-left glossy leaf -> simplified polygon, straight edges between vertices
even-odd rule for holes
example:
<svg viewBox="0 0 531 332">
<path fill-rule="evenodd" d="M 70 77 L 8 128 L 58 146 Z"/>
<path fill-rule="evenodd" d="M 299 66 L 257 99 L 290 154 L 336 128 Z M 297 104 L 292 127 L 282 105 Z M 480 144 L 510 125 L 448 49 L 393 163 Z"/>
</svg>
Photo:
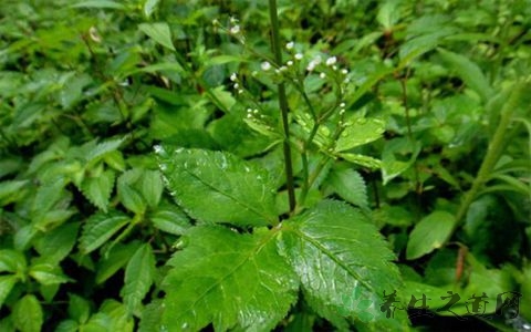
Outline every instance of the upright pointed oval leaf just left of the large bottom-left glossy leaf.
<svg viewBox="0 0 531 332">
<path fill-rule="evenodd" d="M 152 246 L 145 243 L 136 250 L 125 268 L 125 280 L 121 294 L 131 313 L 140 309 L 142 300 L 149 291 L 154 277 L 155 256 Z"/>
</svg>

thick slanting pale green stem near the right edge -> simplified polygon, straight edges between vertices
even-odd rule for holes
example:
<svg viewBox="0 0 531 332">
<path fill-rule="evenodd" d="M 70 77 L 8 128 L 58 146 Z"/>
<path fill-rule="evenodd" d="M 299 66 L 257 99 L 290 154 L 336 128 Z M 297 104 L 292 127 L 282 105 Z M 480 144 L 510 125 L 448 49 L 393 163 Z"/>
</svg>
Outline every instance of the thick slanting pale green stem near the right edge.
<svg viewBox="0 0 531 332">
<path fill-rule="evenodd" d="M 494 168 L 496 163 L 498 163 L 498 159 L 500 157 L 500 154 L 503 149 L 503 145 L 506 142 L 504 137 L 506 137 L 507 128 L 511 123 L 512 113 L 514 108 L 518 106 L 518 102 L 520 101 L 520 97 L 524 90 L 523 87 L 524 87 L 524 84 L 518 84 L 514 87 L 514 90 L 511 92 L 503 108 L 501 108 L 500 122 L 498 124 L 498 127 L 496 128 L 494 136 L 492 137 L 492 141 L 489 144 L 487 155 L 485 156 L 485 159 L 481 163 L 478 175 L 476 176 L 472 183 L 472 187 L 468 190 L 468 193 L 465 196 L 465 199 L 461 203 L 461 206 L 459 207 L 459 210 L 456 216 L 456 225 L 454 226 L 454 231 L 457 229 L 459 224 L 462 222 L 462 219 L 465 218 L 465 215 L 467 214 L 468 208 L 470 207 L 472 201 L 476 199 L 476 196 L 478 195 L 481 187 L 489 179 L 489 176 L 492 173 L 492 169 Z"/>
</svg>

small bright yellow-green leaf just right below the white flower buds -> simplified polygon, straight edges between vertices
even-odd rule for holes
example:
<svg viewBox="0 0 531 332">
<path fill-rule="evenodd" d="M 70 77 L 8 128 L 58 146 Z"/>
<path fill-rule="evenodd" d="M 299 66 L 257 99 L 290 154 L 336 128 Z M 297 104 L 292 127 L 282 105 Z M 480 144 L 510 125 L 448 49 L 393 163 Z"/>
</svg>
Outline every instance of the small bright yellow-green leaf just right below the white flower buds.
<svg viewBox="0 0 531 332">
<path fill-rule="evenodd" d="M 385 122 L 379 118 L 353 116 L 346 121 L 346 128 L 335 144 L 335 151 L 343 152 L 374 142 L 382 137 Z"/>
</svg>

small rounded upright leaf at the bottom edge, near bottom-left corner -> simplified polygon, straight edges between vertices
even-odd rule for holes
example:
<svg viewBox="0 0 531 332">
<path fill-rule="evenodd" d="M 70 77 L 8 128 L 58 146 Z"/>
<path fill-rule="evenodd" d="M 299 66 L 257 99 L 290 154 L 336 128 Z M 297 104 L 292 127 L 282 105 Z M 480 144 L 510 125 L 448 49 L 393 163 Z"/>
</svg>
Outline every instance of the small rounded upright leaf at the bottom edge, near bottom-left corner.
<svg viewBox="0 0 531 332">
<path fill-rule="evenodd" d="M 20 299 L 13 308 L 13 322 L 20 332 L 40 332 L 44 321 L 42 307 L 33 294 Z"/>
</svg>

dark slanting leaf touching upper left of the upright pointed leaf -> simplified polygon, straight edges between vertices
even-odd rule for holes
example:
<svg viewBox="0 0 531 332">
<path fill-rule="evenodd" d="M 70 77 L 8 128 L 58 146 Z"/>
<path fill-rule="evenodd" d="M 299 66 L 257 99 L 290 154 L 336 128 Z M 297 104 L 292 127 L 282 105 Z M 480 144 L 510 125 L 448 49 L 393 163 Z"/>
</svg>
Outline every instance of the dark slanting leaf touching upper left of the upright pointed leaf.
<svg viewBox="0 0 531 332">
<path fill-rule="evenodd" d="M 138 242 L 122 245 L 116 243 L 106 255 L 98 261 L 96 269 L 96 283 L 102 283 L 119 269 L 125 267 L 131 257 L 138 249 Z"/>
</svg>

